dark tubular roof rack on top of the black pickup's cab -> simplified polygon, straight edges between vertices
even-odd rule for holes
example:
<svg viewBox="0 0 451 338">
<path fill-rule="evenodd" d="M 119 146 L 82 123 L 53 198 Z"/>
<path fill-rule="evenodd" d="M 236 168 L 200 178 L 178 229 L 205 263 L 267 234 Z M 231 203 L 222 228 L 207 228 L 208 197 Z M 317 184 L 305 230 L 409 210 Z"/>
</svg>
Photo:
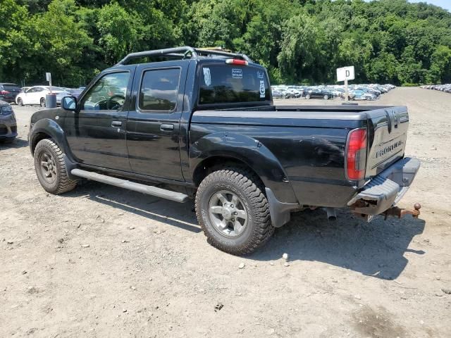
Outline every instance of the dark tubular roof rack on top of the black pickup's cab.
<svg viewBox="0 0 451 338">
<path fill-rule="evenodd" d="M 116 65 L 125 65 L 132 58 L 143 58 L 146 56 L 173 56 L 179 58 L 206 58 L 213 56 L 221 57 L 232 57 L 241 58 L 247 62 L 252 62 L 252 60 L 246 55 L 241 53 L 230 53 L 229 51 L 222 50 L 221 47 L 213 47 L 211 49 L 193 48 L 190 46 L 166 48 L 166 49 L 155 49 L 153 51 L 139 51 L 137 53 L 130 53 Z"/>
</svg>

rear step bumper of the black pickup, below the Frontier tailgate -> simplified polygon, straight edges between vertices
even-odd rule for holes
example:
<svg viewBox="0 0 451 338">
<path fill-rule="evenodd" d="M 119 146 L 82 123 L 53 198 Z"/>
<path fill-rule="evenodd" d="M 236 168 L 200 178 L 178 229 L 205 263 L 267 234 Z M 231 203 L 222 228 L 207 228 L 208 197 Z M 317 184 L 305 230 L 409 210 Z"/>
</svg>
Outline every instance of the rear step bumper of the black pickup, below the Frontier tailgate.
<svg viewBox="0 0 451 338">
<path fill-rule="evenodd" d="M 420 168 L 416 158 L 402 158 L 373 177 L 347 205 L 355 213 L 379 215 L 397 204 L 412 184 Z"/>
</svg>

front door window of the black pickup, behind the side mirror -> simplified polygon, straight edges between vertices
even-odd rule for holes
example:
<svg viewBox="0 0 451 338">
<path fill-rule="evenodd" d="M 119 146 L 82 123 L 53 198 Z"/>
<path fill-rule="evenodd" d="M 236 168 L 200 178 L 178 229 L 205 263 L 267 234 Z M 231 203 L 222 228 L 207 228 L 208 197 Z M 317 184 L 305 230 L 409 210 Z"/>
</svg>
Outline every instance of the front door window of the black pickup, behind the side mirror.
<svg viewBox="0 0 451 338">
<path fill-rule="evenodd" d="M 86 111 L 118 111 L 125 103 L 130 73 L 112 73 L 101 77 L 81 102 Z"/>
</svg>

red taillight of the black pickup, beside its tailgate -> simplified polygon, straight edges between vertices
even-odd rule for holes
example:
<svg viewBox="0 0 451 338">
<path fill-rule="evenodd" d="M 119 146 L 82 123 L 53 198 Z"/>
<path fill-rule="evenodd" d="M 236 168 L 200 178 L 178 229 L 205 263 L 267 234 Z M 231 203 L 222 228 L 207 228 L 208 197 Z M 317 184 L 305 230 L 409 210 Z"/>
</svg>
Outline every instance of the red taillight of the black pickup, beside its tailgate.
<svg viewBox="0 0 451 338">
<path fill-rule="evenodd" d="M 362 180 L 366 165 L 366 129 L 354 129 L 347 137 L 346 173 L 350 180 Z"/>
</svg>

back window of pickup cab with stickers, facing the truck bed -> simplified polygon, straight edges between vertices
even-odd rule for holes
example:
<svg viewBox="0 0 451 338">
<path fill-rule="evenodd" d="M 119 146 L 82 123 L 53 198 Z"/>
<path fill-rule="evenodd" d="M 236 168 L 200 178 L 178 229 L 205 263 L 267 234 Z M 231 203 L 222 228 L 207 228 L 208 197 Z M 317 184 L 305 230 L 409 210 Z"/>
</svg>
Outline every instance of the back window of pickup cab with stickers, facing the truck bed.
<svg viewBox="0 0 451 338">
<path fill-rule="evenodd" d="M 270 99 L 264 70 L 241 65 L 204 65 L 200 74 L 199 105 L 236 104 Z"/>
</svg>

